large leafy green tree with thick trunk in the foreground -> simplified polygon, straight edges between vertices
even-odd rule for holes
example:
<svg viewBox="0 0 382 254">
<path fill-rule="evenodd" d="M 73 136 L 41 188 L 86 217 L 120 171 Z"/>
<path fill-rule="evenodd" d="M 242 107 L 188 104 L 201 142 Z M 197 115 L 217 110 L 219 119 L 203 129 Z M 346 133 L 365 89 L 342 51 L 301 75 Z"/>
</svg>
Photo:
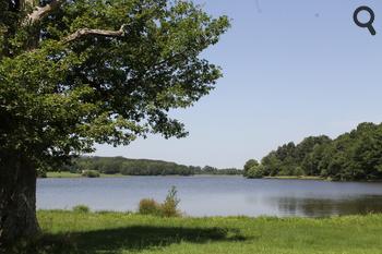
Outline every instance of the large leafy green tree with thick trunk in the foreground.
<svg viewBox="0 0 382 254">
<path fill-rule="evenodd" d="M 229 27 L 186 0 L 0 0 L 0 242 L 38 232 L 36 169 L 157 133 L 207 95 Z"/>
</svg>

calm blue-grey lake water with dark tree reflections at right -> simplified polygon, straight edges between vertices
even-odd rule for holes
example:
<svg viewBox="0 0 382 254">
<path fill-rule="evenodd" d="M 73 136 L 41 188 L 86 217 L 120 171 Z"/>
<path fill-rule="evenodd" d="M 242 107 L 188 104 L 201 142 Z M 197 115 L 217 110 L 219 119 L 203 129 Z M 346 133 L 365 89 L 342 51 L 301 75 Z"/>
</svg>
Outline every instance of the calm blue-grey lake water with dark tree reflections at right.
<svg viewBox="0 0 382 254">
<path fill-rule="evenodd" d="M 190 216 L 307 216 L 382 213 L 382 183 L 247 180 L 241 177 L 39 179 L 37 208 L 85 204 L 95 210 L 136 210 L 141 198 L 163 201 L 171 185 Z"/>
</svg>

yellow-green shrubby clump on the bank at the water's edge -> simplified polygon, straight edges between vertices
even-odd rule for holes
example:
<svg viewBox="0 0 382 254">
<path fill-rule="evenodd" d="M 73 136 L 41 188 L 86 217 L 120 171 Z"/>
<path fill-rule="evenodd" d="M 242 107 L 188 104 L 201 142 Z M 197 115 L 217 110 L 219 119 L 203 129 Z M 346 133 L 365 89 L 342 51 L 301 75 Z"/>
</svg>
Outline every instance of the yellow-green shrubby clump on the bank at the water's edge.
<svg viewBox="0 0 382 254">
<path fill-rule="evenodd" d="M 168 191 L 166 199 L 163 203 L 158 203 L 153 198 L 143 198 L 139 205 L 139 214 L 153 215 L 162 217 L 178 217 L 181 215 L 178 209 L 180 199 L 178 198 L 178 191 L 176 186 L 171 186 Z"/>
</svg>

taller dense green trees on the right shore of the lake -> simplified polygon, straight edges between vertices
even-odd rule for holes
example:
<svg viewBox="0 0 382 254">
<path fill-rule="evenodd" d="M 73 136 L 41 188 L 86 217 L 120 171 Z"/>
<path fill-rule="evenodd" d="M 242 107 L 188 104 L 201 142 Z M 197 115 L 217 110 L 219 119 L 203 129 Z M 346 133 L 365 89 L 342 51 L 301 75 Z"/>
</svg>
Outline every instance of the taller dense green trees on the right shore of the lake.
<svg viewBox="0 0 382 254">
<path fill-rule="evenodd" d="M 335 181 L 382 179 L 382 124 L 361 123 L 335 140 L 310 136 L 244 166 L 247 178 L 311 176 Z"/>
</svg>

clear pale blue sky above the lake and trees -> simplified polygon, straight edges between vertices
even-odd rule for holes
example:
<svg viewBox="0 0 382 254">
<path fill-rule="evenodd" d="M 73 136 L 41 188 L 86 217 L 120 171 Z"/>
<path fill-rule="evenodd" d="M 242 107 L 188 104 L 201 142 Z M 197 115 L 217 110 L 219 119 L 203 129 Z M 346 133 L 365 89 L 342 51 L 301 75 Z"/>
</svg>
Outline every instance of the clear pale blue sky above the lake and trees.
<svg viewBox="0 0 382 254">
<path fill-rule="evenodd" d="M 382 1 L 195 2 L 213 15 L 227 14 L 232 27 L 204 53 L 224 70 L 216 89 L 172 113 L 189 137 L 102 145 L 96 155 L 242 167 L 289 141 L 335 137 L 360 122 L 382 121 Z M 375 12 L 374 37 L 353 22 L 362 4 Z"/>
</svg>

